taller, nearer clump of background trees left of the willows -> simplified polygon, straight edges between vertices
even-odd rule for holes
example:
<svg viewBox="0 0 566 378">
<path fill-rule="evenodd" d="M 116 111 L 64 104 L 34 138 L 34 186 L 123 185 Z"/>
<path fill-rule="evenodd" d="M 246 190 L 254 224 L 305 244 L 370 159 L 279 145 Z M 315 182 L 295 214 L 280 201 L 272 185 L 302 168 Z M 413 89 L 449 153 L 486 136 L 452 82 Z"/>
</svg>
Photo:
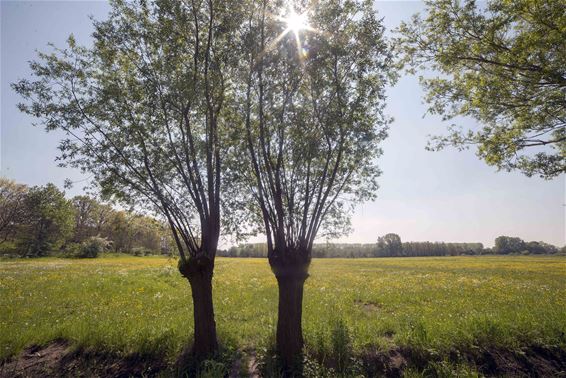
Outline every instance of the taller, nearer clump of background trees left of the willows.
<svg viewBox="0 0 566 378">
<path fill-rule="evenodd" d="M 169 234 L 152 217 L 116 210 L 88 196 L 67 199 L 53 184 L 28 187 L 0 178 L 0 254 L 169 253 Z"/>
</svg>

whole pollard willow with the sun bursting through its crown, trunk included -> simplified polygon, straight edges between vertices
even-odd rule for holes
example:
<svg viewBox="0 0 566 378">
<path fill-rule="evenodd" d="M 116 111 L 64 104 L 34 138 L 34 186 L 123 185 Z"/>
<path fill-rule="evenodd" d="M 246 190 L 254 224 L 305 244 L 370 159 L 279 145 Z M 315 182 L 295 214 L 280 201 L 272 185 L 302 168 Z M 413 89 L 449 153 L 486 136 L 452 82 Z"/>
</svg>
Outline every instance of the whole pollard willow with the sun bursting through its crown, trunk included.
<svg viewBox="0 0 566 378">
<path fill-rule="evenodd" d="M 288 370 L 302 353 L 315 238 L 346 231 L 353 204 L 375 196 L 389 123 L 384 88 L 395 74 L 371 1 L 298 9 L 263 1 L 248 15 L 247 32 L 243 177 L 279 286 L 276 352 Z"/>
</svg>

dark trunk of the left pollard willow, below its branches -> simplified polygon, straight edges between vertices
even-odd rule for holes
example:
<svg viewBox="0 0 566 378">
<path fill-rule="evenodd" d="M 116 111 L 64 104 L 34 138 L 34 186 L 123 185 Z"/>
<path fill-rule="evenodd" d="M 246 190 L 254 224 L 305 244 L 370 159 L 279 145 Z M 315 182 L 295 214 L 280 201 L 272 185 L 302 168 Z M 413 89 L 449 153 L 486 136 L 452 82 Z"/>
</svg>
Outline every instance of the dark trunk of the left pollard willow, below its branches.
<svg viewBox="0 0 566 378">
<path fill-rule="evenodd" d="M 191 259 L 184 266 L 180 266 L 180 270 L 189 280 L 193 296 L 194 341 L 191 354 L 198 360 L 206 359 L 218 351 L 212 303 L 214 263 Z"/>
</svg>

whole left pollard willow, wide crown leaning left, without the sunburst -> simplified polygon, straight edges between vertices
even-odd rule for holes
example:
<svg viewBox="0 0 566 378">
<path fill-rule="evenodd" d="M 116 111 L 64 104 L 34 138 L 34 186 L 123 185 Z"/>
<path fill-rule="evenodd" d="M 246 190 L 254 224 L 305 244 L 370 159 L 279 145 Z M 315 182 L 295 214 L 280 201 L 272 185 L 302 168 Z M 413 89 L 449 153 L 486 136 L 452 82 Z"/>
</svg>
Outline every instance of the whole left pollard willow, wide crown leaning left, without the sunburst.
<svg viewBox="0 0 566 378">
<path fill-rule="evenodd" d="M 238 7 L 223 1 L 115 1 L 92 47 L 40 54 L 13 88 L 23 112 L 63 130 L 63 164 L 106 195 L 169 225 L 190 283 L 192 353 L 218 348 L 212 275 L 221 227 L 223 156 Z M 224 217 L 223 219 L 227 219 Z"/>
</svg>

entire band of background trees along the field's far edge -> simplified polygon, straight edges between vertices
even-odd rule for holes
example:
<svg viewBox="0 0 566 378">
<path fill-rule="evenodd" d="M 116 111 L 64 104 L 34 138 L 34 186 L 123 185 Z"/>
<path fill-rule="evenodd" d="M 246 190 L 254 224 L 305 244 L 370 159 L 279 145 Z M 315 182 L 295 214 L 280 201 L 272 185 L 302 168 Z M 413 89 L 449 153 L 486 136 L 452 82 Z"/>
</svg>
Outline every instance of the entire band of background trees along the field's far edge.
<svg viewBox="0 0 566 378">
<path fill-rule="evenodd" d="M 100 240 L 93 240 L 100 239 Z M 88 196 L 66 199 L 53 184 L 28 187 L 0 178 L 0 253 L 30 257 L 63 252 L 80 254 L 102 245 L 136 255 L 170 253 L 169 229 L 158 220 L 116 210 Z M 499 236 L 493 248 L 482 243 L 402 242 L 389 233 L 377 243 L 326 243 L 313 246 L 313 257 L 459 256 L 482 254 L 566 253 L 551 244 Z M 226 257 L 267 257 L 265 243 L 248 243 L 220 250 Z"/>
</svg>

